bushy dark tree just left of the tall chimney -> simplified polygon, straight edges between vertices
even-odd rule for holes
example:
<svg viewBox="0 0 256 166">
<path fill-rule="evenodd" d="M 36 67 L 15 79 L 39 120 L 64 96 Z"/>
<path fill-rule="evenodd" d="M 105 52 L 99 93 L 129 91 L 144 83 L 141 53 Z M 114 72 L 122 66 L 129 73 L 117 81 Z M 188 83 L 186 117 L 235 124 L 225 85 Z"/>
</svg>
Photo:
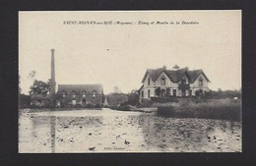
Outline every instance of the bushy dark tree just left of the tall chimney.
<svg viewBox="0 0 256 166">
<path fill-rule="evenodd" d="M 31 86 L 30 94 L 47 94 L 50 91 L 51 85 L 49 82 L 44 83 L 42 81 L 34 80 Z"/>
</svg>

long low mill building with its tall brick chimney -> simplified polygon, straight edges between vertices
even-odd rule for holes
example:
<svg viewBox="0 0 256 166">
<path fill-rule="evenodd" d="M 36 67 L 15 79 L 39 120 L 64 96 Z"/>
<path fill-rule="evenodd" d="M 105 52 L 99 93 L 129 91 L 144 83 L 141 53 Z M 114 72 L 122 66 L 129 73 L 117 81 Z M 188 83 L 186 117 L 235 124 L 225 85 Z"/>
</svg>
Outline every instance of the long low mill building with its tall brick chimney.
<svg viewBox="0 0 256 166">
<path fill-rule="evenodd" d="M 55 92 L 54 49 L 51 49 L 51 88 L 48 93 L 31 94 L 31 105 L 36 106 L 98 106 L 103 103 L 103 87 L 101 84 L 58 84 Z"/>
</svg>

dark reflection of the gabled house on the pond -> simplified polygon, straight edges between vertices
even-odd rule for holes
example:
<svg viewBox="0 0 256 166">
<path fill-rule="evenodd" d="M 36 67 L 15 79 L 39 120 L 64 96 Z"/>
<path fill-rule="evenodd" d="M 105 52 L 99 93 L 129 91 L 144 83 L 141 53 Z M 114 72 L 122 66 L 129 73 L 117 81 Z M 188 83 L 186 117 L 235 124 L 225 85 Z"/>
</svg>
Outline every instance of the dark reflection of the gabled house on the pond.
<svg viewBox="0 0 256 166">
<path fill-rule="evenodd" d="M 174 119 L 146 114 L 139 116 L 139 125 L 148 145 L 165 150 L 175 147 L 187 149 L 188 145 L 206 143 L 216 126 L 215 121 L 208 124 L 207 120 Z M 200 149 L 200 146 L 195 148 Z"/>
</svg>

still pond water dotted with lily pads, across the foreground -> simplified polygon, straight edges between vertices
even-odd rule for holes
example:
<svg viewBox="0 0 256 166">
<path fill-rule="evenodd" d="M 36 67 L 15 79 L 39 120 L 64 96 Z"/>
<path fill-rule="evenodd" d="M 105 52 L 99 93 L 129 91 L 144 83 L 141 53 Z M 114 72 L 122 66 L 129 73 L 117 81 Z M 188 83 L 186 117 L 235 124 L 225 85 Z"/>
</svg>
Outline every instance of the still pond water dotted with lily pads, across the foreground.
<svg viewBox="0 0 256 166">
<path fill-rule="evenodd" d="M 19 113 L 20 153 L 240 151 L 240 122 L 110 109 Z"/>
</svg>

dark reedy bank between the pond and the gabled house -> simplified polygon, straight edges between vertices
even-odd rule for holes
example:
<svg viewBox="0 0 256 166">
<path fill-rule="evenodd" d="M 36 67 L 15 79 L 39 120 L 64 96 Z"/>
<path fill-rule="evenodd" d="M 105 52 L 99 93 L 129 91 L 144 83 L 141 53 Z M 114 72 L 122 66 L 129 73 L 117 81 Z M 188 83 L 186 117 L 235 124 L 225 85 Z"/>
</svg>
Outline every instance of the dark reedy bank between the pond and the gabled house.
<svg viewBox="0 0 256 166">
<path fill-rule="evenodd" d="M 225 119 L 241 121 L 241 101 L 214 99 L 205 102 L 180 102 L 158 107 L 158 115 L 178 118 Z"/>
</svg>

